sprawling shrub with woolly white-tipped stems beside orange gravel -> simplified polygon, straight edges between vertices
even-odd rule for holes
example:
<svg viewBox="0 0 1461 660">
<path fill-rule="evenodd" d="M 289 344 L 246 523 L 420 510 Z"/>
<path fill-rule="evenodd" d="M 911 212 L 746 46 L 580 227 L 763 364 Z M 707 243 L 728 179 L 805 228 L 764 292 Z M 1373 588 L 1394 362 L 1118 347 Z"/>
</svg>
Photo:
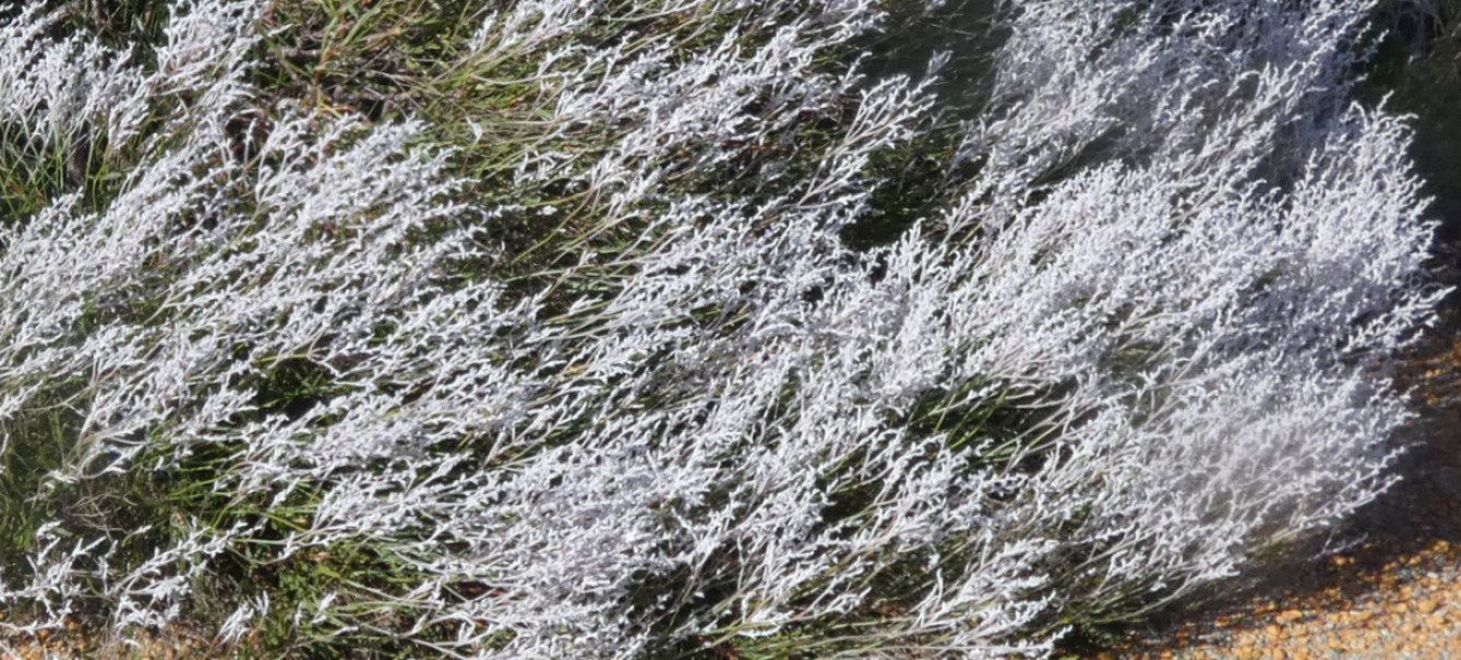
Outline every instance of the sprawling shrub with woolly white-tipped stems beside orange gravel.
<svg viewBox="0 0 1461 660">
<path fill-rule="evenodd" d="M 1039 657 L 1230 577 L 1410 416 L 1369 4 L 1014 1 L 887 74 L 874 0 L 468 3 L 378 120 L 260 82 L 275 3 L 10 12 L 4 171 L 72 165 L 0 223 L 0 628 Z"/>
</svg>

